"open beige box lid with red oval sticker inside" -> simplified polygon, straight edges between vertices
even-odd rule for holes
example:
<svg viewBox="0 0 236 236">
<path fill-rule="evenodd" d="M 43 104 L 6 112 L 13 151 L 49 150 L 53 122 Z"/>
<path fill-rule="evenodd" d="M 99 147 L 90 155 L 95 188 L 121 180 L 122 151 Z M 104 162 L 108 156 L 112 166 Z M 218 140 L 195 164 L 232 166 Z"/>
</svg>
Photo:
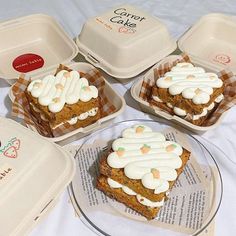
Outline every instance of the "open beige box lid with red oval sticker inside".
<svg viewBox="0 0 236 236">
<path fill-rule="evenodd" d="M 51 17 L 34 14 L 0 23 L 0 78 L 35 75 L 77 54 L 75 42 Z M 11 83 L 11 82 L 9 82 Z"/>
</svg>

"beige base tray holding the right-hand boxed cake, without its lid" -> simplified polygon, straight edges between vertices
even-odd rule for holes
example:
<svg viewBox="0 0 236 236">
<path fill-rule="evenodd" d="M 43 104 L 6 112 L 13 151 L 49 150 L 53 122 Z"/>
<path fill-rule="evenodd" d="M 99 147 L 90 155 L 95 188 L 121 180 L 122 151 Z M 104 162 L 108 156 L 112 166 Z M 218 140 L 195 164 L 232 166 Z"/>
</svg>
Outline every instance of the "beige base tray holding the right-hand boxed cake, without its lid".
<svg viewBox="0 0 236 236">
<path fill-rule="evenodd" d="M 171 55 L 171 56 L 168 56 L 166 58 L 164 58 L 163 60 L 161 60 L 159 63 L 157 63 L 153 68 L 151 68 L 144 76 L 144 78 L 150 78 L 152 79 L 153 76 L 154 76 L 154 73 L 153 73 L 153 69 L 154 68 L 157 68 L 158 66 L 162 65 L 162 64 L 165 64 L 166 62 L 173 62 L 175 60 L 177 60 L 179 58 L 178 55 Z M 194 60 L 192 61 L 195 65 L 197 66 L 202 66 L 201 64 L 198 64 L 197 62 L 195 62 Z M 206 71 L 211 71 L 211 72 L 216 72 L 216 71 L 213 71 L 212 69 L 209 69 L 207 67 L 204 67 L 206 69 Z M 214 124 L 214 125 L 211 125 L 211 126 L 197 126 L 197 125 L 194 125 L 176 115 L 170 115 L 168 114 L 167 112 L 165 111 L 161 111 L 161 110 L 155 110 L 154 108 L 152 108 L 148 102 L 146 101 L 143 101 L 140 97 L 139 97 L 139 94 L 140 94 L 140 90 L 141 90 L 141 87 L 142 87 L 142 83 L 143 83 L 143 78 L 136 81 L 133 86 L 131 87 L 131 95 L 132 97 L 139 103 L 140 105 L 140 108 L 142 109 L 142 111 L 146 112 L 146 113 L 149 113 L 149 114 L 152 114 L 152 115 L 155 115 L 155 116 L 159 116 L 159 117 L 162 117 L 166 120 L 169 120 L 171 122 L 174 122 L 178 125 L 181 125 L 183 126 L 184 128 L 187 128 L 188 130 L 190 131 L 193 131 L 195 133 L 198 133 L 198 134 L 202 134 L 208 130 L 211 130 L 211 129 L 214 129 L 216 128 L 222 121 L 222 118 L 223 116 L 225 115 L 225 113 L 223 115 L 221 115 L 221 117 L 217 120 L 217 122 Z"/>
</svg>

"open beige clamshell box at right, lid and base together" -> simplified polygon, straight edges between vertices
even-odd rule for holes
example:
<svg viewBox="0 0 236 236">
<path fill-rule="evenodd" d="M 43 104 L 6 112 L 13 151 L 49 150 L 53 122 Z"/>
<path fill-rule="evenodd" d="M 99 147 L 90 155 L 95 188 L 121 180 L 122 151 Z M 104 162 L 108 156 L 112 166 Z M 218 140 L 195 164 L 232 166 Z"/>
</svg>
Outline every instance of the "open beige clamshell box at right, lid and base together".
<svg viewBox="0 0 236 236">
<path fill-rule="evenodd" d="M 203 16 L 199 22 L 191 27 L 178 41 L 179 49 L 186 52 L 191 61 L 203 67 L 207 72 L 217 73 L 224 68 L 229 68 L 236 74 L 236 47 L 233 42 L 236 40 L 235 17 L 223 14 L 209 14 Z M 163 58 L 154 65 L 144 78 L 153 78 L 153 69 L 166 62 L 173 62 L 178 55 L 171 55 Z M 132 97 L 140 104 L 144 112 L 160 116 L 171 122 L 177 123 L 193 132 L 203 133 L 216 128 L 222 121 L 223 115 L 211 126 L 197 126 L 176 115 L 170 115 L 165 111 L 155 110 L 148 102 L 140 97 L 140 89 L 143 79 L 136 81 L 132 88 Z"/>
</svg>

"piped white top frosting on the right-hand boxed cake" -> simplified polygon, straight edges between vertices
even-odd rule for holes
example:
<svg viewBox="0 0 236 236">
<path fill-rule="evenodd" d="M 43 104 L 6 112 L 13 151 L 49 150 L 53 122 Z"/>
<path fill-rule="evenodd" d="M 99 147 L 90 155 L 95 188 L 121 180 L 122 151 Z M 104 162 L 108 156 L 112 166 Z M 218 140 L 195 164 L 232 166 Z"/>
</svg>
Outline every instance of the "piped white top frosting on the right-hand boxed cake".
<svg viewBox="0 0 236 236">
<path fill-rule="evenodd" d="M 167 88 L 171 95 L 182 94 L 191 99 L 194 104 L 206 104 L 214 88 L 223 85 L 221 79 L 214 73 L 206 73 L 201 67 L 191 63 L 178 63 L 170 72 L 156 81 L 159 88 Z"/>
</svg>

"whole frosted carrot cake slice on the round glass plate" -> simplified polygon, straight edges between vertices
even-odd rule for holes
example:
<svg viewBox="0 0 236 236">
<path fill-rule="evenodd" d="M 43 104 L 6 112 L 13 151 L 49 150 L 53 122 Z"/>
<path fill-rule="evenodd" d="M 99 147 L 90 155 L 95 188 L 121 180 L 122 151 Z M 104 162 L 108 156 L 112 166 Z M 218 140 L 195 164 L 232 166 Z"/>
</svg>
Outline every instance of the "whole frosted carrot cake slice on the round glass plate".
<svg viewBox="0 0 236 236">
<path fill-rule="evenodd" d="M 183 171 L 190 152 L 145 125 L 122 132 L 100 160 L 98 189 L 154 219 Z"/>
</svg>

